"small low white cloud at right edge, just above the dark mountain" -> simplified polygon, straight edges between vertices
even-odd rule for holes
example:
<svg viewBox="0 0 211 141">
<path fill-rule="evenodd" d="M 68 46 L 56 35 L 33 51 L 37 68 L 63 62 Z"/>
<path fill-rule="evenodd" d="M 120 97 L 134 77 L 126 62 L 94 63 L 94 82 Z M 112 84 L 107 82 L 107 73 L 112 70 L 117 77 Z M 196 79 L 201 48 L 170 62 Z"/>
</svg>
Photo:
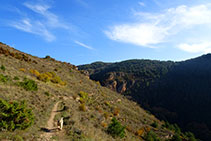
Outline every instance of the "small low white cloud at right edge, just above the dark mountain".
<svg viewBox="0 0 211 141">
<path fill-rule="evenodd" d="M 211 42 L 201 42 L 196 44 L 182 43 L 178 46 L 180 49 L 190 53 L 210 53 Z"/>
</svg>

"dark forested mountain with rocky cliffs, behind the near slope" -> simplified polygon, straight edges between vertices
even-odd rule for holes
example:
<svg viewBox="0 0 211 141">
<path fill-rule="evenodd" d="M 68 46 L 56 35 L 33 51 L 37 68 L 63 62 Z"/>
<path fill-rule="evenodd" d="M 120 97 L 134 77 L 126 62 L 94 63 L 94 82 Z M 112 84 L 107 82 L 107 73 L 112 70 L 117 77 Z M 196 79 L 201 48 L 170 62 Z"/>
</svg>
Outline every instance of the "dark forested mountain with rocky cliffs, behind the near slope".
<svg viewBox="0 0 211 141">
<path fill-rule="evenodd" d="M 99 62 L 98 62 L 99 63 Z M 128 60 L 78 66 L 158 118 L 211 139 L 211 54 L 182 62 Z"/>
</svg>

